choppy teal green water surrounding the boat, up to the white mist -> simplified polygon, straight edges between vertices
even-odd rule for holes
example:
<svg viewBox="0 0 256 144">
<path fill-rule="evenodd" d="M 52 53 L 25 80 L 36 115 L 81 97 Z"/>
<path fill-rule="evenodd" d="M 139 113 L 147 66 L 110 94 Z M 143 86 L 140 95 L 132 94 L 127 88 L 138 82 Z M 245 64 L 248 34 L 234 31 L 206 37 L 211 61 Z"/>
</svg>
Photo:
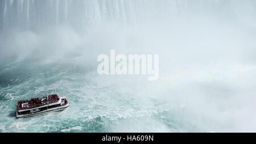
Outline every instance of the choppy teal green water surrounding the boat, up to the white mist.
<svg viewBox="0 0 256 144">
<path fill-rule="evenodd" d="M 167 104 L 141 96 L 142 86 L 123 86 L 100 77 L 94 69 L 72 61 L 43 63 L 29 58 L 2 66 L 0 132 L 177 130 L 179 121 L 172 118 L 175 114 Z M 62 112 L 16 120 L 16 101 L 44 96 L 44 91 L 66 96 L 70 106 Z"/>
</svg>

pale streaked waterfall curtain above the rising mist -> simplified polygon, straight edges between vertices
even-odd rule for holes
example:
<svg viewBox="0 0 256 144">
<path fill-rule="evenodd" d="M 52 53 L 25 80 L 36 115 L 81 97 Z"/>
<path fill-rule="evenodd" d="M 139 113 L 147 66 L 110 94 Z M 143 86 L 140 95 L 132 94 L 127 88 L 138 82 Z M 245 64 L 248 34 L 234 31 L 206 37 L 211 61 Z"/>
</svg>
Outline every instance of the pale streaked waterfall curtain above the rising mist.
<svg viewBox="0 0 256 144">
<path fill-rule="evenodd" d="M 255 6 L 254 0 L 1 0 L 0 28 L 40 29 L 61 23 L 79 27 L 106 21 L 137 24 L 213 13 L 253 18 Z"/>
</svg>

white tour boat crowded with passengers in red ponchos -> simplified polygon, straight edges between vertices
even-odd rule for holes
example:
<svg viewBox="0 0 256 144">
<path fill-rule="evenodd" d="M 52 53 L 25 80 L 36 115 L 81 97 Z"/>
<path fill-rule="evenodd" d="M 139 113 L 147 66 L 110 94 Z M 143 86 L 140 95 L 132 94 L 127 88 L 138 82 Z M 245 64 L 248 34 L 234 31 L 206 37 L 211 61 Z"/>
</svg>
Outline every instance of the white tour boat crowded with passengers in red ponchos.
<svg viewBox="0 0 256 144">
<path fill-rule="evenodd" d="M 42 115 L 48 112 L 62 111 L 68 107 L 65 96 L 48 95 L 43 98 L 32 98 L 31 100 L 19 100 L 16 105 L 16 118 L 26 118 Z"/>
</svg>

